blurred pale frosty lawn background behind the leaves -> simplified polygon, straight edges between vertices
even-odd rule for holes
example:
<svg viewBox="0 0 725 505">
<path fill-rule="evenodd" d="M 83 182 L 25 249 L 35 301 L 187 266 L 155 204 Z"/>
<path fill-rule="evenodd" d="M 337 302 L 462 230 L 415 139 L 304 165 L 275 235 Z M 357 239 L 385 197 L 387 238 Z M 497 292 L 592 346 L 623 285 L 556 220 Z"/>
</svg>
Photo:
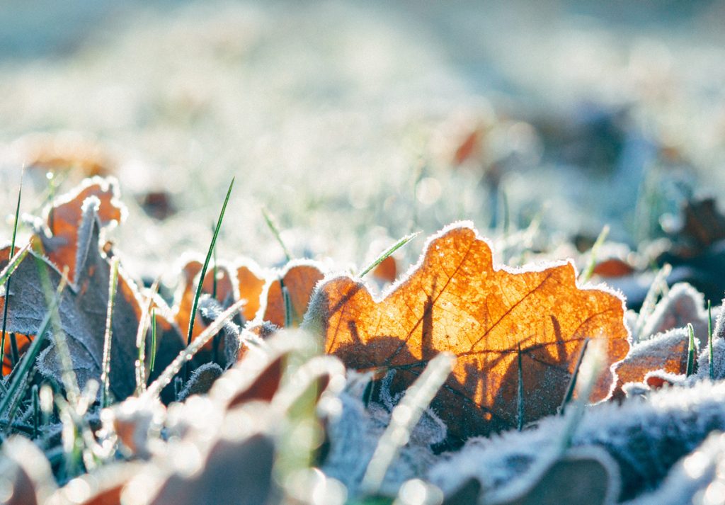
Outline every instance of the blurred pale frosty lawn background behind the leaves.
<svg viewBox="0 0 725 505">
<path fill-rule="evenodd" d="M 203 254 L 232 176 L 228 260 L 283 260 L 262 207 L 337 268 L 423 231 L 410 261 L 458 219 L 636 249 L 725 189 L 724 22 L 715 1 L 5 0 L 1 208 L 22 165 L 25 213 L 113 175 L 138 276 Z"/>
</svg>

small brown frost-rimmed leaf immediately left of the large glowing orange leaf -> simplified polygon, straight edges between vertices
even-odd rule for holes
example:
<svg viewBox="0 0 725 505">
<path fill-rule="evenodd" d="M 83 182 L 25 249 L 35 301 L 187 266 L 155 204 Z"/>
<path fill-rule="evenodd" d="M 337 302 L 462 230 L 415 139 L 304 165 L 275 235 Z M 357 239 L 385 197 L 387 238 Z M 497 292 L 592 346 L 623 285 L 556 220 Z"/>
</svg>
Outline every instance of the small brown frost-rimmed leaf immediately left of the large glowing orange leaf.
<svg viewBox="0 0 725 505">
<path fill-rule="evenodd" d="M 267 303 L 264 307 L 262 321 L 268 321 L 276 326 L 284 327 L 285 307 L 282 288 L 289 293 L 291 303 L 292 326 L 298 327 L 307 312 L 310 296 L 315 285 L 325 275 L 318 263 L 312 261 L 295 261 L 289 263 L 268 285 L 266 291 Z M 265 295 L 262 295 L 264 297 Z"/>
</svg>

